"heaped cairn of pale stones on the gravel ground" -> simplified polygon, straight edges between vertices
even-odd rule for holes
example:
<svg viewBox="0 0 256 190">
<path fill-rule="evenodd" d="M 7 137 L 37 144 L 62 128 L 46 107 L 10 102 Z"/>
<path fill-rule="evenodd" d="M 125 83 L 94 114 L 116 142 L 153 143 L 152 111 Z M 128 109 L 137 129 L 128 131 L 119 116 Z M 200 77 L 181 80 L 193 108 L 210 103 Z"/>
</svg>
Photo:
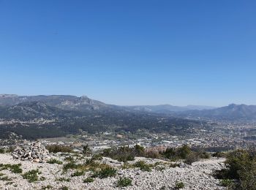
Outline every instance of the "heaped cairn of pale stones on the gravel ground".
<svg viewBox="0 0 256 190">
<path fill-rule="evenodd" d="M 18 146 L 12 151 L 12 158 L 22 161 L 44 162 L 48 157 L 49 151 L 41 142 L 30 142 L 23 146 Z"/>
</svg>

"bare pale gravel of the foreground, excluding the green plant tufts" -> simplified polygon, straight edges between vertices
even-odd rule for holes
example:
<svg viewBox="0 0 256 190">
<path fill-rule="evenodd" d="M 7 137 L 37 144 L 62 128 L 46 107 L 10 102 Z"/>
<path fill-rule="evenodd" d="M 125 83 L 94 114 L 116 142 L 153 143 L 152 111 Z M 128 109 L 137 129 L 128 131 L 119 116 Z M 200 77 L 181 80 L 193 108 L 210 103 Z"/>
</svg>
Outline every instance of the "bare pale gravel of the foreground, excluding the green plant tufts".
<svg viewBox="0 0 256 190">
<path fill-rule="evenodd" d="M 147 172 L 138 167 L 124 169 L 124 163 L 104 157 L 99 163 L 116 168 L 116 176 L 94 178 L 93 182 L 84 183 L 83 180 L 91 176 L 91 171 L 72 177 L 76 170 L 69 169 L 67 172 L 63 170 L 64 164 L 68 163 L 67 154 L 51 154 L 50 157 L 63 163 L 21 161 L 13 159 L 10 153 L 0 154 L 0 166 L 1 164 L 21 164 L 20 168 L 22 169 L 22 173 L 15 173 L 12 170 L 3 170 L 2 168 L 0 171 L 0 189 L 174 189 L 177 182 L 184 183 L 183 189 L 224 189 L 219 186 L 219 180 L 211 176 L 214 170 L 220 170 L 223 167 L 224 159 L 211 158 L 194 162 L 192 165 L 181 163 L 179 167 L 170 167 L 168 161 L 142 157 L 136 157 L 135 161 L 128 161 L 128 165 L 143 160 L 154 166 L 151 167 L 150 172 Z M 84 163 L 89 159 L 77 154 L 72 154 L 72 157 L 76 164 Z M 39 171 L 37 181 L 30 183 L 28 179 L 23 178 L 25 172 L 37 169 Z M 120 177 L 132 179 L 132 186 L 117 187 L 116 183 Z"/>
</svg>

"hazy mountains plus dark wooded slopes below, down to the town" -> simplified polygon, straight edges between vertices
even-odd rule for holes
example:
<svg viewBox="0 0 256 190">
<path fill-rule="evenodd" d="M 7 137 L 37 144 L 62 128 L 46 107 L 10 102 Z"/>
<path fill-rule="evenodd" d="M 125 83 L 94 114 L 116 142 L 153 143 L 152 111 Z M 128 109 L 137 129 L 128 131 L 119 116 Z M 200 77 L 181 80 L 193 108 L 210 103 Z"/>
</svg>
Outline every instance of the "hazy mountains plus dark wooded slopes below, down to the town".
<svg viewBox="0 0 256 190">
<path fill-rule="evenodd" d="M 26 139 L 80 132 L 157 132 L 173 135 L 208 127 L 207 120 L 256 120 L 256 106 L 117 106 L 87 96 L 0 95 L 0 139 L 15 133 Z"/>
</svg>

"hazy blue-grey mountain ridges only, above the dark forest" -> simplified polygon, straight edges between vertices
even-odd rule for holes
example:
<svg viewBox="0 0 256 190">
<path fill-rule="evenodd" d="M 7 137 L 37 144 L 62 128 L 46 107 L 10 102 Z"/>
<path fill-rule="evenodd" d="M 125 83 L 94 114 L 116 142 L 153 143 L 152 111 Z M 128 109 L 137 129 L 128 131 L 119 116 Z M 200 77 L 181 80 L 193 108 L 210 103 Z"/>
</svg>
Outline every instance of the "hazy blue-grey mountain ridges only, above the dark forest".
<svg viewBox="0 0 256 190">
<path fill-rule="evenodd" d="M 44 117 L 54 115 L 61 117 L 80 115 L 97 111 L 108 112 L 135 112 L 157 113 L 181 118 L 203 119 L 255 119 L 256 106 L 246 104 L 230 104 L 226 107 L 209 107 L 188 105 L 178 107 L 169 104 L 141 105 L 141 106 L 117 106 L 105 104 L 87 96 L 50 95 L 50 96 L 18 96 L 12 94 L 0 95 L 0 118 L 16 117 Z"/>
</svg>

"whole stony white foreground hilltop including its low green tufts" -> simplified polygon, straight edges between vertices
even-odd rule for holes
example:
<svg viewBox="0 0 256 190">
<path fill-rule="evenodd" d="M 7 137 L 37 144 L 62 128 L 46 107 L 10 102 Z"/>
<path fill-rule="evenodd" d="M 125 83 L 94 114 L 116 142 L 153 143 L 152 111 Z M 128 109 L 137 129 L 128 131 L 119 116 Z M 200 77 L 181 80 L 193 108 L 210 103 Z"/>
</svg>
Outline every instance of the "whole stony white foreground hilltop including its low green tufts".
<svg viewBox="0 0 256 190">
<path fill-rule="evenodd" d="M 4 153 L 0 154 L 0 189 L 225 189 L 212 176 L 214 170 L 222 169 L 223 161 L 180 162 L 170 167 L 173 162 L 161 159 L 136 157 L 124 164 L 106 157 L 98 161 L 78 153 L 52 153 L 47 162 L 37 163 Z M 145 163 L 150 170 L 136 163 Z"/>
</svg>

